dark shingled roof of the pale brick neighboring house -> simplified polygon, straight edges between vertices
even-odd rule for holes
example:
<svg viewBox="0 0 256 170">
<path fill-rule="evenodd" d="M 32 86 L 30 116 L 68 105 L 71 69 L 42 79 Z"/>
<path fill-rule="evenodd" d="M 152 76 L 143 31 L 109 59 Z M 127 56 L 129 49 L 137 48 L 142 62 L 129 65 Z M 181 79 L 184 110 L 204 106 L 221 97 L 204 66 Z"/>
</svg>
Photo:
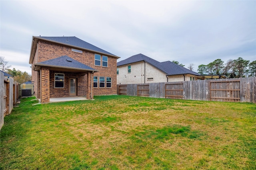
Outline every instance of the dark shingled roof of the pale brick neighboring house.
<svg viewBox="0 0 256 170">
<path fill-rule="evenodd" d="M 163 72 L 166 73 L 166 75 L 179 75 L 179 74 L 192 74 L 199 76 L 200 74 L 191 71 L 183 66 L 180 66 L 178 64 L 172 63 L 170 61 L 165 61 L 165 62 L 158 62 L 154 59 L 151 59 L 150 57 L 147 57 L 146 55 L 143 54 L 137 54 L 132 57 L 129 57 L 128 59 L 125 59 L 123 61 L 119 61 L 117 63 L 117 66 L 122 66 L 126 64 L 132 64 L 140 61 L 145 61 L 147 63 L 152 64 L 156 68 L 162 70 Z"/>
</svg>

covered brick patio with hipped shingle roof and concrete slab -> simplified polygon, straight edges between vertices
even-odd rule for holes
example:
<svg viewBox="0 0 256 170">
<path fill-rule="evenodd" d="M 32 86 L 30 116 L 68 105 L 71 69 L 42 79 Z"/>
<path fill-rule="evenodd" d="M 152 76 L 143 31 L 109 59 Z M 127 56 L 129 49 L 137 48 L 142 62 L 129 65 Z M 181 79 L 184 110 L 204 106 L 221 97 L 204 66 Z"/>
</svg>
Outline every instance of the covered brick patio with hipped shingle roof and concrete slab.
<svg viewBox="0 0 256 170">
<path fill-rule="evenodd" d="M 92 76 L 98 70 L 68 56 L 36 63 L 33 69 L 39 72 L 41 103 L 93 99 Z"/>
</svg>

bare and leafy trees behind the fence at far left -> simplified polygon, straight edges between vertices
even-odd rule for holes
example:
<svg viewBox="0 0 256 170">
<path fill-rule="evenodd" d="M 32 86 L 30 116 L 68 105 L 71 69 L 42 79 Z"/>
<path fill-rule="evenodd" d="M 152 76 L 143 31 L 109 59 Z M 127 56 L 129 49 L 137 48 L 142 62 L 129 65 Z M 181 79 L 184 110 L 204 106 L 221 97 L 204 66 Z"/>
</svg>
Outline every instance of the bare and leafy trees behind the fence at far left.
<svg viewBox="0 0 256 170">
<path fill-rule="evenodd" d="M 24 82 L 30 81 L 32 76 L 28 74 L 26 71 L 22 72 L 20 70 L 16 70 L 15 68 L 10 69 L 11 65 L 8 64 L 8 61 L 2 56 L 0 56 L 0 69 L 3 72 L 6 72 L 13 76 L 14 81 L 22 84 Z"/>
</svg>

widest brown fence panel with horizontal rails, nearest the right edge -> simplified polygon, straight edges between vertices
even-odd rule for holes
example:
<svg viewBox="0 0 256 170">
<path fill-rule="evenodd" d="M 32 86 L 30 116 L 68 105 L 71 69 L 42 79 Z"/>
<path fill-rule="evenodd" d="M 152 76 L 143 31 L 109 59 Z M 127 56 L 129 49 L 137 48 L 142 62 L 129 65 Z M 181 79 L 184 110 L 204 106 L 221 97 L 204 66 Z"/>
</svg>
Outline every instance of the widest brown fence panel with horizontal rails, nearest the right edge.
<svg viewBox="0 0 256 170">
<path fill-rule="evenodd" d="M 210 100 L 240 102 L 240 80 L 210 82 Z"/>
</svg>

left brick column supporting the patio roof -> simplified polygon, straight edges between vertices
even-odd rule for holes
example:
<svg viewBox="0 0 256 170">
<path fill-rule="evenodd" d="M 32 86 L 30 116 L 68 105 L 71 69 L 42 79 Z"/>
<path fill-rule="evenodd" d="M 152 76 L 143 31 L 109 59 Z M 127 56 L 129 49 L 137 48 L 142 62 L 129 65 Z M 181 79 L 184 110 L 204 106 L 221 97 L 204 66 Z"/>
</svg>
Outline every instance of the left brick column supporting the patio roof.
<svg viewBox="0 0 256 170">
<path fill-rule="evenodd" d="M 49 68 L 41 68 L 41 103 L 50 102 L 50 70 Z"/>
</svg>

